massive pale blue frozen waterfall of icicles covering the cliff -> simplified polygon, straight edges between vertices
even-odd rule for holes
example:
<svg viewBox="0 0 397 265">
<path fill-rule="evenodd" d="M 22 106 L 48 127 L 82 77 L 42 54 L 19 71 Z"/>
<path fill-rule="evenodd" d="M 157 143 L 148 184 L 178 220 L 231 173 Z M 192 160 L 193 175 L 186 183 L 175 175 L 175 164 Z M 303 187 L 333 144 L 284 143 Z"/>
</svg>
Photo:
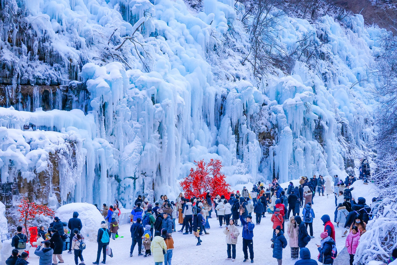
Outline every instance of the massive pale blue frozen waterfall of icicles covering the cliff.
<svg viewBox="0 0 397 265">
<path fill-rule="evenodd" d="M 10 81 L 0 101 L 0 175 L 50 179 L 45 203 L 118 198 L 129 208 L 138 193 L 176 194 L 194 161 L 210 158 L 222 160 L 233 185 L 338 174 L 373 137 L 367 66 L 381 31 L 361 15 L 344 26 L 284 15 L 275 41 L 291 52 L 306 39 L 316 65 L 296 60 L 291 74 L 258 82 L 241 64 L 249 34 L 234 1 L 204 0 L 200 12 L 182 0 L 18 3 L 29 45 L 18 57 L 16 35 L 0 44 Z M 34 93 L 23 94 L 22 83 Z M 37 130 L 23 131 L 29 123 Z"/>
</svg>

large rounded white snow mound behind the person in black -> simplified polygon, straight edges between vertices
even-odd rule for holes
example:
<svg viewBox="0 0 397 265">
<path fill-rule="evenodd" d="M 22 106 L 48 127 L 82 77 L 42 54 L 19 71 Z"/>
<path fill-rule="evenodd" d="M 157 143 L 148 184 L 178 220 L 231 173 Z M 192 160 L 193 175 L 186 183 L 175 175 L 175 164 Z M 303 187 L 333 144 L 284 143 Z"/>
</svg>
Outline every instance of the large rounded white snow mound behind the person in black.
<svg viewBox="0 0 397 265">
<path fill-rule="evenodd" d="M 83 223 L 81 234 L 83 234 L 85 240 L 96 241 L 100 223 L 104 221 L 98 209 L 89 203 L 68 203 L 59 207 L 55 216 L 58 216 L 62 222 L 67 223 L 73 217 L 73 212 L 79 213 L 79 218 Z"/>
</svg>

